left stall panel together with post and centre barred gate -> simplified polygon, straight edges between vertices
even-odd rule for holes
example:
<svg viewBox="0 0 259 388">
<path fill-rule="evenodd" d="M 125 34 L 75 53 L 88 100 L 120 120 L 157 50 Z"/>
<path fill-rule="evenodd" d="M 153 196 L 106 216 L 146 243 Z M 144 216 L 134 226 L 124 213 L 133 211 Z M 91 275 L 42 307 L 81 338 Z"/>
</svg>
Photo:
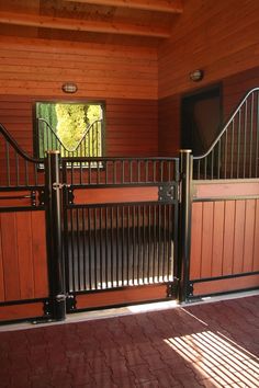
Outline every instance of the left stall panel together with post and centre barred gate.
<svg viewBox="0 0 259 388">
<path fill-rule="evenodd" d="M 1 320 L 177 297 L 178 158 L 1 160 Z"/>
</svg>

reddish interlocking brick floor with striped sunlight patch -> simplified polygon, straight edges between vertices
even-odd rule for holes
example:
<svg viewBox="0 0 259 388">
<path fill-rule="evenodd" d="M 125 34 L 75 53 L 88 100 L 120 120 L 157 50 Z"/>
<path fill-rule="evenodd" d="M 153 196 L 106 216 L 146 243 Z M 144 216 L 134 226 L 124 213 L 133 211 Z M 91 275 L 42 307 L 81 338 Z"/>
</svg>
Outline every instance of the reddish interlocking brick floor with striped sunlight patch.
<svg viewBox="0 0 259 388">
<path fill-rule="evenodd" d="M 0 387 L 259 387 L 259 296 L 0 332 Z"/>
</svg>

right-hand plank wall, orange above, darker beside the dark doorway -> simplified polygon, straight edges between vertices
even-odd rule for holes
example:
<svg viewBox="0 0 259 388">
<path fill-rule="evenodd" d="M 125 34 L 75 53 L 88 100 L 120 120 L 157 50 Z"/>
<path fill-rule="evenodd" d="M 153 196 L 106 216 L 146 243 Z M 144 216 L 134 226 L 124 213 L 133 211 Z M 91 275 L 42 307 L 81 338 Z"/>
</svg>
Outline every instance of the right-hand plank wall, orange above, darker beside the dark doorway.
<svg viewBox="0 0 259 388">
<path fill-rule="evenodd" d="M 189 0 L 158 50 L 159 152 L 180 147 L 180 102 L 183 94 L 223 84 L 223 119 L 245 92 L 259 85 L 259 1 Z M 189 79 L 204 70 L 198 83 Z"/>
</svg>

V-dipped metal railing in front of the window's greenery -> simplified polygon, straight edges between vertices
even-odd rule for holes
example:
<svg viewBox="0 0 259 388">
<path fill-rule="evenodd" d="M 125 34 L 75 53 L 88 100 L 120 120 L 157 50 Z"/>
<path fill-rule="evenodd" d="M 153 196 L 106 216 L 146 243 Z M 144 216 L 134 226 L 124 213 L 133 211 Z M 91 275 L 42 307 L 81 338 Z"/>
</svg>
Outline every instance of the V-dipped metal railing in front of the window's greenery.
<svg viewBox="0 0 259 388">
<path fill-rule="evenodd" d="M 68 148 L 44 118 L 37 118 L 38 157 L 44 158 L 46 150 L 58 150 L 64 158 L 101 157 L 103 150 L 103 121 L 97 119 L 85 130 L 78 145 Z"/>
</svg>

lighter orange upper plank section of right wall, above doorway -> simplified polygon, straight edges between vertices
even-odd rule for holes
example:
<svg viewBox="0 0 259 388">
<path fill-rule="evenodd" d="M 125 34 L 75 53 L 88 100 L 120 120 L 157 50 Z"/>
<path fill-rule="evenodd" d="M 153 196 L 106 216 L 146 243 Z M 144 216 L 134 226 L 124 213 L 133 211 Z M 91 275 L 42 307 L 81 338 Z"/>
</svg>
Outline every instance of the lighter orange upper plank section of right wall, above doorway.
<svg viewBox="0 0 259 388">
<path fill-rule="evenodd" d="M 259 2 L 189 0 L 159 46 L 159 99 L 196 88 L 189 73 L 204 70 L 202 88 L 259 62 Z"/>
</svg>

